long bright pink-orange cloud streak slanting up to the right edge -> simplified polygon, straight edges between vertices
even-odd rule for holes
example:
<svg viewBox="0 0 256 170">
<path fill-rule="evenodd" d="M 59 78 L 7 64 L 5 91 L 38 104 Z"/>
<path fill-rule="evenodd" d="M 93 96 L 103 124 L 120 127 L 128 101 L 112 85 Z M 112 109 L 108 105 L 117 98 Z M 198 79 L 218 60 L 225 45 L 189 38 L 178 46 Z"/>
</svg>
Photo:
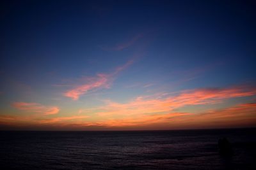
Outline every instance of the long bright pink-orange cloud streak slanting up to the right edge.
<svg viewBox="0 0 256 170">
<path fill-rule="evenodd" d="M 96 108 L 102 110 L 97 114 L 103 117 L 111 117 L 113 115 L 141 115 L 149 113 L 166 113 L 176 108 L 188 105 L 212 104 L 218 103 L 223 99 L 233 97 L 253 96 L 256 94 L 255 89 L 246 89 L 244 87 L 231 87 L 227 89 L 196 89 L 186 90 L 177 96 L 154 99 L 138 97 L 129 103 L 115 103 L 107 101 L 106 106 Z"/>
</svg>

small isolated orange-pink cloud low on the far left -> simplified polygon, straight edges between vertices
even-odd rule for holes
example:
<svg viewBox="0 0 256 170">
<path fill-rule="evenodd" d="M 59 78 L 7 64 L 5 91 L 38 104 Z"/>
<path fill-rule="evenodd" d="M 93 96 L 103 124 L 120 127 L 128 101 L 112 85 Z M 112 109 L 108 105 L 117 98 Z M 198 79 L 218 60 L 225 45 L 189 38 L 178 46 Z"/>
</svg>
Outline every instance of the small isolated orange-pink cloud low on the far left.
<svg viewBox="0 0 256 170">
<path fill-rule="evenodd" d="M 18 110 L 24 110 L 35 113 L 44 113 L 44 115 L 53 115 L 60 111 L 60 108 L 57 106 L 43 106 L 39 103 L 24 103 L 24 102 L 15 102 L 12 104 L 14 108 Z"/>
</svg>

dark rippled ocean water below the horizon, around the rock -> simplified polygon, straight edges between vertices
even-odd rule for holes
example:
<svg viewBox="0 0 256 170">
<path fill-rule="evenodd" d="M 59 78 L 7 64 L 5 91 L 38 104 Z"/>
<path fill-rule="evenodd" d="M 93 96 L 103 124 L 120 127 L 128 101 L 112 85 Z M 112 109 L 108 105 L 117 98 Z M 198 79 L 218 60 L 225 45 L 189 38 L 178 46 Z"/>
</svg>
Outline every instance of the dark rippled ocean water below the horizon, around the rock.
<svg viewBox="0 0 256 170">
<path fill-rule="evenodd" d="M 0 169 L 256 169 L 256 129 L 1 131 Z M 227 137 L 232 157 L 221 157 Z"/>
</svg>

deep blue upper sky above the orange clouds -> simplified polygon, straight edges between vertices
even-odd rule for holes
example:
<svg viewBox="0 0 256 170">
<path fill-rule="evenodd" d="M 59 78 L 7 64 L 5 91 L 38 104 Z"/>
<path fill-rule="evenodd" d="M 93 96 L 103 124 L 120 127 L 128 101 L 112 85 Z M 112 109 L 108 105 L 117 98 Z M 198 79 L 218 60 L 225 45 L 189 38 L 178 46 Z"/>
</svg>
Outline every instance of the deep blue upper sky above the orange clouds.
<svg viewBox="0 0 256 170">
<path fill-rule="evenodd" d="M 255 1 L 2 1 L 1 107 L 67 106 L 65 92 L 100 73 L 108 83 L 82 90 L 78 103 L 90 108 L 164 92 L 253 86 L 255 8 Z M 62 110 L 82 106 L 72 101 Z"/>
</svg>

